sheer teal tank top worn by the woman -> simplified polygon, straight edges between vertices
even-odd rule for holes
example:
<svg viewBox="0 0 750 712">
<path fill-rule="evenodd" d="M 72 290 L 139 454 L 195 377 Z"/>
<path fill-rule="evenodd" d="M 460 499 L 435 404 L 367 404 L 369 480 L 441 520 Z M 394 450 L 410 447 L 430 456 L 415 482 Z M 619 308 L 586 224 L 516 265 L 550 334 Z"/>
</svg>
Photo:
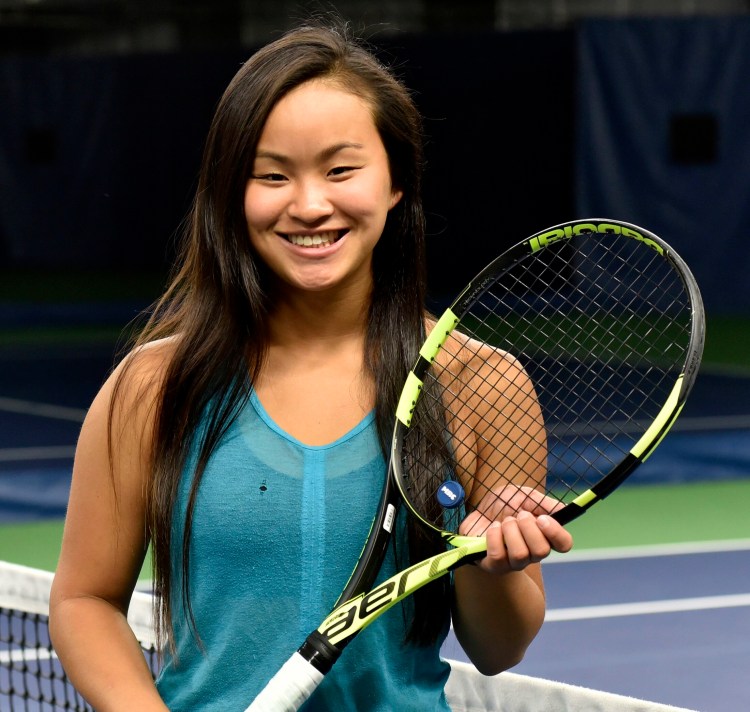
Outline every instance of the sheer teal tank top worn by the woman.
<svg viewBox="0 0 750 712">
<path fill-rule="evenodd" d="M 374 414 L 329 445 L 281 430 L 253 393 L 215 450 L 198 492 L 189 591 L 202 647 L 180 592 L 180 551 L 196 453 L 173 528 L 176 656 L 157 687 L 172 712 L 241 712 L 336 602 L 370 529 L 385 472 Z M 403 526 L 401 527 L 403 535 Z M 380 580 L 396 572 L 389 549 Z M 439 651 L 405 646 L 400 606 L 346 648 L 304 712 L 449 710 Z"/>
</svg>

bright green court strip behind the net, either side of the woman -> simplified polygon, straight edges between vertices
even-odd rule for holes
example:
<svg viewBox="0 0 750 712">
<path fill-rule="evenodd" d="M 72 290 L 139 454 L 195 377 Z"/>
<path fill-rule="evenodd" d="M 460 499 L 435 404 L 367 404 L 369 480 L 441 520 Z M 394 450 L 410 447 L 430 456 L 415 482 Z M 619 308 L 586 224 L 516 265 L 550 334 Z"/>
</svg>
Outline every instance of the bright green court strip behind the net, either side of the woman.
<svg viewBox="0 0 750 712">
<path fill-rule="evenodd" d="M 572 522 L 575 549 L 750 538 L 750 479 L 684 485 L 623 485 Z M 63 523 L 0 527 L 0 560 L 53 570 Z M 144 567 L 143 578 L 148 578 Z"/>
</svg>

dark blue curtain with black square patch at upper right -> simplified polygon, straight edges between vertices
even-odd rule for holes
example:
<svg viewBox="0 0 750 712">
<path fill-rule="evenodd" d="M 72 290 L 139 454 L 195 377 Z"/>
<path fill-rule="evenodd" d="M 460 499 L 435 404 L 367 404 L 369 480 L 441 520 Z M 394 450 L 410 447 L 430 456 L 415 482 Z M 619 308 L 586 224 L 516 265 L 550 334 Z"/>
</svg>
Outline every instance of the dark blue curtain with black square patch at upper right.
<svg viewBox="0 0 750 712">
<path fill-rule="evenodd" d="M 587 21 L 578 58 L 577 212 L 661 234 L 709 309 L 750 311 L 750 18 Z"/>
</svg>

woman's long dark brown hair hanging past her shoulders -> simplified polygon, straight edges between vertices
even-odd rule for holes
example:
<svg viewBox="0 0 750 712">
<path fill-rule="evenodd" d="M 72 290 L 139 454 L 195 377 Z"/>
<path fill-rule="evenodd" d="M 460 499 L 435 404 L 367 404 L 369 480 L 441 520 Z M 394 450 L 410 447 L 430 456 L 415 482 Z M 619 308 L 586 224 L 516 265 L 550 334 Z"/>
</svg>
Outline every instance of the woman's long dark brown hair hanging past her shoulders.
<svg viewBox="0 0 750 712">
<path fill-rule="evenodd" d="M 403 192 L 373 254 L 366 327 L 365 368 L 376 386 L 376 422 L 386 457 L 401 386 L 421 343 L 425 277 L 419 113 L 407 90 L 346 26 L 300 27 L 254 54 L 224 92 L 208 133 L 176 271 L 136 344 L 174 337 L 174 353 L 154 404 L 147 496 L 159 594 L 157 626 L 169 639 L 175 593 L 171 524 L 188 445 L 205 418 L 205 435 L 194 443 L 198 461 L 178 569 L 183 604 L 194 626 L 188 570 L 196 493 L 212 451 L 259 376 L 268 347 L 270 287 L 248 239 L 246 183 L 272 108 L 291 89 L 316 78 L 338 83 L 369 103 L 392 183 Z M 412 559 L 434 551 L 435 543 L 417 532 L 408 538 Z M 409 613 L 410 640 L 426 643 L 436 638 L 447 615 L 447 591 L 445 583 L 428 587 Z M 444 614 L 436 617 L 434 609 Z"/>
</svg>

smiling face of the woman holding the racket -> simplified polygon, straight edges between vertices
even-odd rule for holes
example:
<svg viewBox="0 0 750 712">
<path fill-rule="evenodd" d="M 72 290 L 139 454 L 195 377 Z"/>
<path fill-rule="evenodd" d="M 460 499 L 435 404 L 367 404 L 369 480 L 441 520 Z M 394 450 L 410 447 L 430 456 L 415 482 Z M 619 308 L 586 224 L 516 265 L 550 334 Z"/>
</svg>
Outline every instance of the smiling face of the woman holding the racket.
<svg viewBox="0 0 750 712">
<path fill-rule="evenodd" d="M 260 136 L 245 189 L 250 241 L 290 288 L 369 290 L 372 251 L 401 195 L 370 105 L 309 81 L 276 104 Z"/>
</svg>

